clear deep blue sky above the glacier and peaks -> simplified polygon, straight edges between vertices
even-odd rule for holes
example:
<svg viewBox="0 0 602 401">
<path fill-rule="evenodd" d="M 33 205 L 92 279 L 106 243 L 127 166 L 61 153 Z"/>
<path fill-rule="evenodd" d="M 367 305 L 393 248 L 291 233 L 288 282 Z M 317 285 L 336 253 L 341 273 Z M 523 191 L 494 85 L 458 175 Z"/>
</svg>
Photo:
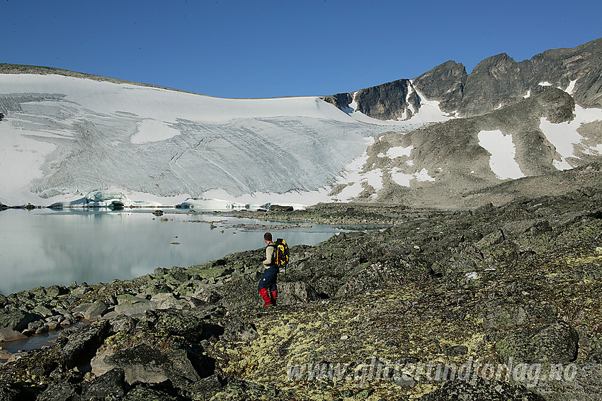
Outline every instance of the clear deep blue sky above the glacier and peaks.
<svg viewBox="0 0 602 401">
<path fill-rule="evenodd" d="M 0 62 L 228 98 L 314 96 L 471 72 L 602 36 L 601 0 L 0 0 Z"/>
</svg>

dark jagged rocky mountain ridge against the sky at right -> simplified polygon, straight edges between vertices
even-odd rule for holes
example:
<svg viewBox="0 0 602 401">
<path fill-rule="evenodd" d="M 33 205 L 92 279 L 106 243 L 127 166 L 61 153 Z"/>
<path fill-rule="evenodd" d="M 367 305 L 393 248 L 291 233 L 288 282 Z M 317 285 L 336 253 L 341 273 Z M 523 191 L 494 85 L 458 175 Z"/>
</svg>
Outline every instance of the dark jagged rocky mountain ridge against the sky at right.
<svg viewBox="0 0 602 401">
<path fill-rule="evenodd" d="M 505 53 L 494 55 L 479 62 L 470 74 L 464 65 L 450 60 L 411 80 L 361 89 L 356 96 L 364 96 L 356 98 L 356 110 L 382 120 L 409 119 L 419 110 L 419 100 L 405 96 L 416 89 L 428 100 L 439 101 L 443 111 L 471 117 L 517 103 L 540 93 L 545 86 L 569 89 L 581 106 L 600 108 L 601 68 L 602 38 L 573 48 L 546 50 L 522 62 Z M 353 94 L 326 96 L 324 100 L 344 110 L 353 101 Z"/>
</svg>

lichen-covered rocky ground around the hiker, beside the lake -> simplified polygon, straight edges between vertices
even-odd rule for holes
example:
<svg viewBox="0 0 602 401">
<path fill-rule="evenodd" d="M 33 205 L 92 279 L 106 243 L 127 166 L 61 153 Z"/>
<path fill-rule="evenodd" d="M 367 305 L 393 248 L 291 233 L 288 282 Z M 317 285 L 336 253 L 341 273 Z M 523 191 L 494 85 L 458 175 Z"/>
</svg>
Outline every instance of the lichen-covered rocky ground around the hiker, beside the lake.
<svg viewBox="0 0 602 401">
<path fill-rule="evenodd" d="M 0 400 L 599 400 L 601 200 L 237 212 L 387 227 L 293 247 L 277 307 L 262 249 L 0 296 L 4 339 L 86 321 L 0 351 Z"/>
</svg>

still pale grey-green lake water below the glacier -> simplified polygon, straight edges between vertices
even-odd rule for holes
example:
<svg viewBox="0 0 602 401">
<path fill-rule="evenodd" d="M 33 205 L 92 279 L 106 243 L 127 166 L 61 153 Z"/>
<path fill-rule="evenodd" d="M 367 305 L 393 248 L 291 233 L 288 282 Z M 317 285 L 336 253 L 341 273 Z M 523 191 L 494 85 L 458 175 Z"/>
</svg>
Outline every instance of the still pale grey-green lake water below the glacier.
<svg viewBox="0 0 602 401">
<path fill-rule="evenodd" d="M 202 264 L 232 252 L 263 248 L 265 229 L 247 228 L 280 225 L 185 212 L 166 212 L 162 217 L 168 220 L 162 221 L 152 210 L 4 210 L 0 293 L 69 286 L 73 281 L 108 283 L 152 273 L 157 267 Z M 339 231 L 328 225 L 271 230 L 289 246 L 317 244 Z"/>
</svg>

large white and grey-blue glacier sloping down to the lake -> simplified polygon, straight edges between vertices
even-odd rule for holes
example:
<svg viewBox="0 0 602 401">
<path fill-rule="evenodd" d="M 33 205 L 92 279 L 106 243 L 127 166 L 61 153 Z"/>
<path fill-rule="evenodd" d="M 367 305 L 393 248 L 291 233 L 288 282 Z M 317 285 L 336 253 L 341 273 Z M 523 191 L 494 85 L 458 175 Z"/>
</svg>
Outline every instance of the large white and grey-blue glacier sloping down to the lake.
<svg viewBox="0 0 602 401">
<path fill-rule="evenodd" d="M 224 99 L 62 75 L 0 74 L 0 110 L 9 205 L 309 205 L 331 200 L 366 138 L 391 129 L 317 96 Z"/>
</svg>

